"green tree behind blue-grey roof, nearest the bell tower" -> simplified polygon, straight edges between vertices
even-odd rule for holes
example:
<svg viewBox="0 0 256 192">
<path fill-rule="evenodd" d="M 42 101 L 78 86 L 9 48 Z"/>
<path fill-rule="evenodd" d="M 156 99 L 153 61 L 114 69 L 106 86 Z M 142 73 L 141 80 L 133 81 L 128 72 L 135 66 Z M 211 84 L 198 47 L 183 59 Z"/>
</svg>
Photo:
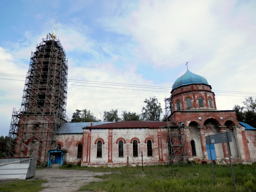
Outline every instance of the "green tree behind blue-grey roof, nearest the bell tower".
<svg viewBox="0 0 256 192">
<path fill-rule="evenodd" d="M 90 110 L 83 109 L 78 110 L 76 109 L 76 112 L 73 113 L 72 119 L 70 122 L 100 122 L 98 118 L 94 116 L 93 113 L 91 113 Z"/>
</svg>

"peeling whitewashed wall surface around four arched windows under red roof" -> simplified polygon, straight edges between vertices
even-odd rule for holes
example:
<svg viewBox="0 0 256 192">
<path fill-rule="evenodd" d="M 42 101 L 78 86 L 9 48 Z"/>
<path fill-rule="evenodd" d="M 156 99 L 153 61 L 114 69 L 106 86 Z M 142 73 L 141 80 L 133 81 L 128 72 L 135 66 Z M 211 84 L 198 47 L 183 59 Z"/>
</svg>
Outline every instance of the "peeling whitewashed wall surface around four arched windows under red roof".
<svg viewBox="0 0 256 192">
<path fill-rule="evenodd" d="M 164 129 L 167 132 L 167 129 Z M 91 137 L 91 164 L 107 164 L 108 163 L 108 129 L 92 129 Z M 133 144 L 130 143 L 132 138 L 138 138 L 140 143 L 138 143 L 138 157 L 133 156 Z M 153 156 L 147 156 L 147 144 L 144 142 L 147 137 L 152 138 L 152 151 Z M 97 145 L 94 144 L 95 140 L 102 138 L 105 144 L 102 145 L 102 158 L 97 158 Z M 118 157 L 118 143 L 116 141 L 118 138 L 124 138 L 126 143 L 123 144 L 124 157 Z M 168 156 L 167 143 L 165 143 L 166 138 L 162 137 L 163 152 Z M 154 143 L 153 143 L 154 141 Z M 157 129 L 113 129 L 113 154 L 112 160 L 113 164 L 141 164 L 141 152 L 143 153 L 143 163 L 152 164 L 157 163 L 159 160 L 158 153 L 158 138 Z M 165 146 L 166 145 L 166 146 Z M 168 161 L 168 158 L 165 158 Z"/>
</svg>

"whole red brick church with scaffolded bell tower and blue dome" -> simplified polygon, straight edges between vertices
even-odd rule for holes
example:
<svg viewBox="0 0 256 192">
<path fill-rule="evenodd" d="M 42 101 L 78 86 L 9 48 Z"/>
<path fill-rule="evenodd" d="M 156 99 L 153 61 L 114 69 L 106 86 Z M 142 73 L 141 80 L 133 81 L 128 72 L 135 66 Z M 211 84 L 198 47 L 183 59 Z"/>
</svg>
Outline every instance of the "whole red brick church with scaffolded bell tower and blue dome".
<svg viewBox="0 0 256 192">
<path fill-rule="evenodd" d="M 48 166 L 136 166 L 228 160 L 226 143 L 206 145 L 205 136 L 230 132 L 233 162 L 256 161 L 256 129 L 233 110 L 217 110 L 207 80 L 189 70 L 165 98 L 166 120 L 70 123 L 66 116 L 67 60 L 53 34 L 36 46 L 20 110 L 14 110 L 7 155 L 36 156 Z"/>
</svg>

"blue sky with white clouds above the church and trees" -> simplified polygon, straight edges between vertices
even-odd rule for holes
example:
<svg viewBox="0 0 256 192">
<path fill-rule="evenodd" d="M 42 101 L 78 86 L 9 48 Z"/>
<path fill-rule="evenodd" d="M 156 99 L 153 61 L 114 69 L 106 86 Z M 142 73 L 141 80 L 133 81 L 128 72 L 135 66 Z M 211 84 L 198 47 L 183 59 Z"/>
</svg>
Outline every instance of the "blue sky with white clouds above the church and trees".
<svg viewBox="0 0 256 192">
<path fill-rule="evenodd" d="M 76 109 L 101 120 L 105 110 L 141 113 L 154 96 L 164 112 L 186 62 L 211 85 L 217 110 L 242 106 L 256 98 L 255 8 L 254 0 L 2 0 L 0 135 L 20 109 L 31 52 L 54 22 L 68 58 L 70 119 Z"/>
</svg>

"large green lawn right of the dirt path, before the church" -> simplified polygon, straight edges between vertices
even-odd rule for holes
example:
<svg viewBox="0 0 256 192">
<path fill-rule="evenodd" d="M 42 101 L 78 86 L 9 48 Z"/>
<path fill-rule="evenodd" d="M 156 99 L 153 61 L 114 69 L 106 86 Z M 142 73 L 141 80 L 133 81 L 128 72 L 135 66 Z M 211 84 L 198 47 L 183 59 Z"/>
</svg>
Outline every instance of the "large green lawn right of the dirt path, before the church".
<svg viewBox="0 0 256 192">
<path fill-rule="evenodd" d="M 214 186 L 211 165 L 180 166 L 145 166 L 144 175 L 142 167 L 76 167 L 80 170 L 95 172 L 112 172 L 98 175 L 102 181 L 91 182 L 79 191 L 234 191 L 230 167 L 227 165 L 214 165 L 216 186 Z M 70 169 L 71 169 L 70 168 Z M 236 191 L 256 191 L 256 163 L 252 165 L 233 165 Z"/>
</svg>

